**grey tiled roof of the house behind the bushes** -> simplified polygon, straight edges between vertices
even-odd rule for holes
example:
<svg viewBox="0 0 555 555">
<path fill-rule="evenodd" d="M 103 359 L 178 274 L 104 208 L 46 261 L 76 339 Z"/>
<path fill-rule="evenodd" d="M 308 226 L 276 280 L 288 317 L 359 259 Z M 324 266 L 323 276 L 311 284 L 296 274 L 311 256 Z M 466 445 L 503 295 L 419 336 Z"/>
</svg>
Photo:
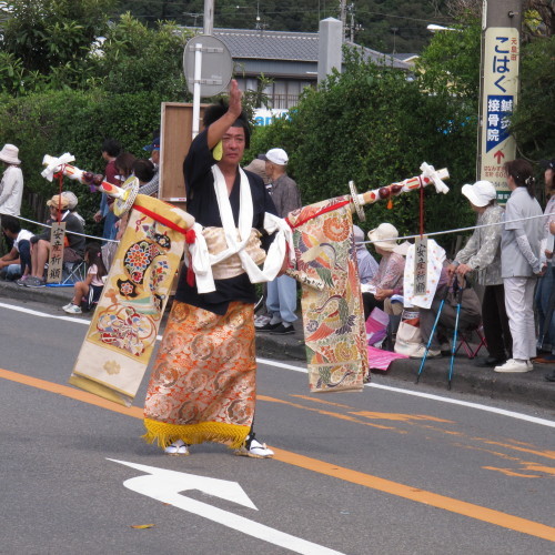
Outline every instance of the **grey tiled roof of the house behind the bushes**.
<svg viewBox="0 0 555 555">
<path fill-rule="evenodd" d="M 213 34 L 230 49 L 233 59 L 317 62 L 317 33 L 214 29 Z M 350 44 L 359 47 L 354 43 Z M 408 64 L 389 54 L 364 47 L 359 48 L 362 49 L 364 59 L 370 58 L 376 63 L 386 63 L 394 68 L 411 69 Z"/>
</svg>

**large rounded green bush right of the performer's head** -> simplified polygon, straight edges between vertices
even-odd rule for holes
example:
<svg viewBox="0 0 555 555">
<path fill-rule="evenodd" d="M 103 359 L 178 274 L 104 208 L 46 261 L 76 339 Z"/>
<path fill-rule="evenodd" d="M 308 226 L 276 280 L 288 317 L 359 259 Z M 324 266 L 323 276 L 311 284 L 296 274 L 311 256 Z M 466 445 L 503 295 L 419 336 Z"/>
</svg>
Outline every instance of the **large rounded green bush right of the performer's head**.
<svg viewBox="0 0 555 555">
<path fill-rule="evenodd" d="M 462 202 L 461 185 L 474 178 L 476 119 L 464 101 L 444 93 L 423 93 L 418 83 L 392 68 L 363 62 L 347 51 L 343 73 L 333 73 L 319 90 L 305 90 L 290 119 L 256 129 L 250 158 L 280 145 L 290 154 L 290 169 L 301 186 L 303 203 L 349 194 L 420 173 L 426 161 L 447 167 L 452 192 L 426 192 L 426 230 L 473 221 Z M 418 230 L 418 195 L 381 202 L 367 210 L 366 228 L 390 221 L 400 231 Z"/>
</svg>

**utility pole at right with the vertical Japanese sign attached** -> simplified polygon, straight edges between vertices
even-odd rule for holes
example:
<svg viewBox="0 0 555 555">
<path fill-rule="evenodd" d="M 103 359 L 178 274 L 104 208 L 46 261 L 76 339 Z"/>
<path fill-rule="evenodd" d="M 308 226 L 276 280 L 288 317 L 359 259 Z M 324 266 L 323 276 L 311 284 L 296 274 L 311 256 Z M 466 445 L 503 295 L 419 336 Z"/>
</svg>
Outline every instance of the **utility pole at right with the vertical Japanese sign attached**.
<svg viewBox="0 0 555 555">
<path fill-rule="evenodd" d="M 516 157 L 508 127 L 518 99 L 521 24 L 522 0 L 483 0 L 476 176 L 495 185 L 501 203 L 509 196 L 503 165 Z"/>
</svg>

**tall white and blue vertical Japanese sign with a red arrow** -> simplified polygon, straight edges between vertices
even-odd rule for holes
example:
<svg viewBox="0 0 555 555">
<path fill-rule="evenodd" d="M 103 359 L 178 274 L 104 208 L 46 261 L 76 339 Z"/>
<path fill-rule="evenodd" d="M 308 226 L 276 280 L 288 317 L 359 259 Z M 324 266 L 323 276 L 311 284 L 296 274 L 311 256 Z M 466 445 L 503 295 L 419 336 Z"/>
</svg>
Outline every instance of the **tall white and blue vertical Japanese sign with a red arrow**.
<svg viewBox="0 0 555 555">
<path fill-rule="evenodd" d="M 497 200 L 505 203 L 511 193 L 503 164 L 514 160 L 516 153 L 508 128 L 518 93 L 518 30 L 492 27 L 485 30 L 484 40 L 478 178 L 491 181 Z"/>
</svg>

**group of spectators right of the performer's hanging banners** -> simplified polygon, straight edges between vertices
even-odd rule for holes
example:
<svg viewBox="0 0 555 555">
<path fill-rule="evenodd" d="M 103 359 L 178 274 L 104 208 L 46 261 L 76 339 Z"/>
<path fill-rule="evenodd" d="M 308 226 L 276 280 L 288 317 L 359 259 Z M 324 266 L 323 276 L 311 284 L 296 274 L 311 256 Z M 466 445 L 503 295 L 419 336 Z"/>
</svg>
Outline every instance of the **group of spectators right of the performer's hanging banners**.
<svg viewBox="0 0 555 555">
<path fill-rule="evenodd" d="M 545 191 L 551 196 L 555 159 L 542 161 L 542 165 Z M 421 341 L 411 357 L 451 353 L 450 337 L 457 325 L 460 331 L 483 330 L 488 356 L 478 366 L 500 373 L 524 373 L 532 371 L 534 363 L 555 363 L 555 200 L 549 198 L 543 213 L 529 162 L 507 162 L 505 171 L 511 196 L 504 209 L 497 204 L 497 192 L 488 181 L 462 188 L 477 214 L 476 228 L 454 260 L 444 262 L 431 306 L 420 309 Z M 397 230 L 390 223 L 369 232 L 381 261 L 372 280 L 361 278 L 366 319 L 376 307 L 393 315 L 384 300 L 403 297 L 407 249 L 406 243 L 397 244 Z M 357 241 L 362 243 L 360 236 Z M 410 303 L 405 307 L 414 310 Z M 555 381 L 555 372 L 546 379 Z"/>
</svg>

